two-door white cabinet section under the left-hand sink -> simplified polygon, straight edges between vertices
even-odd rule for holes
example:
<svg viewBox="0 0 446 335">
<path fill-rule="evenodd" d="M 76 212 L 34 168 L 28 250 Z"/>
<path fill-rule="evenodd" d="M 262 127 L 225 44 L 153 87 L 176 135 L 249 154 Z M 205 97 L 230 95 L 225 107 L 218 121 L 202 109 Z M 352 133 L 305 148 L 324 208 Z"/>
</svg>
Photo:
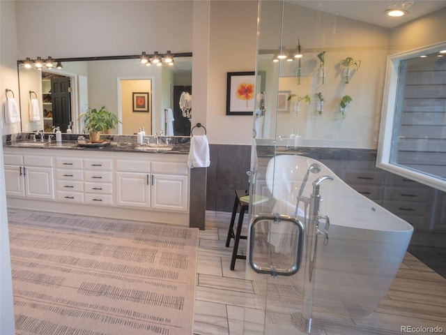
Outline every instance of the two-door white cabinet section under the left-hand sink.
<svg viewBox="0 0 446 335">
<path fill-rule="evenodd" d="M 53 200 L 52 157 L 4 154 L 6 195 Z"/>
</svg>

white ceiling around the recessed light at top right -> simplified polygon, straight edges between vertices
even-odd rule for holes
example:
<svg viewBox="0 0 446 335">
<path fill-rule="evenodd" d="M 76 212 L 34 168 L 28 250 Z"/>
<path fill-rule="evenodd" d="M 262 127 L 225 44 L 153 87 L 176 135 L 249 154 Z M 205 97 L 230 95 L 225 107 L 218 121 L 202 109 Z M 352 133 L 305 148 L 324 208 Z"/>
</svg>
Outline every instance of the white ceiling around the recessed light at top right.
<svg viewBox="0 0 446 335">
<path fill-rule="evenodd" d="M 290 0 L 287 2 L 385 28 L 397 27 L 400 24 L 446 7 L 446 0 Z M 393 8 L 403 9 L 408 13 L 403 17 L 388 17 L 385 15 L 385 10 Z"/>
</svg>

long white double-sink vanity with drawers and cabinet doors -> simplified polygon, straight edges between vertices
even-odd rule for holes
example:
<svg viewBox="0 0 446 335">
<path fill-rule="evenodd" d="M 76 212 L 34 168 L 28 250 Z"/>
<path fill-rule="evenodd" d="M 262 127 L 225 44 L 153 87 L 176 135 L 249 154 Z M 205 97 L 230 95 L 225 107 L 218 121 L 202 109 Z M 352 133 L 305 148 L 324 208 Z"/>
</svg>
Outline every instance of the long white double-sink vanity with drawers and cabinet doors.
<svg viewBox="0 0 446 335">
<path fill-rule="evenodd" d="M 9 207 L 189 225 L 187 150 L 3 147 Z"/>
</svg>

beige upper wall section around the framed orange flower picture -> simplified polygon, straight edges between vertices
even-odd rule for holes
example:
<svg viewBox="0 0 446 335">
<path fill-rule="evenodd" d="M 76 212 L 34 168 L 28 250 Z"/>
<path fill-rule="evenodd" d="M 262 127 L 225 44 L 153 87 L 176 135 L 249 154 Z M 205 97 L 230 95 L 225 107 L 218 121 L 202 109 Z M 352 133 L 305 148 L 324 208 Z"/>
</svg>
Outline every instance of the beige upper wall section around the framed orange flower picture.
<svg viewBox="0 0 446 335">
<path fill-rule="evenodd" d="M 257 1 L 210 2 L 207 124 L 210 143 L 252 142 L 252 116 L 226 116 L 226 76 L 228 72 L 255 70 L 256 36 Z M 195 99 L 200 92 L 195 87 L 192 91 Z"/>
</svg>

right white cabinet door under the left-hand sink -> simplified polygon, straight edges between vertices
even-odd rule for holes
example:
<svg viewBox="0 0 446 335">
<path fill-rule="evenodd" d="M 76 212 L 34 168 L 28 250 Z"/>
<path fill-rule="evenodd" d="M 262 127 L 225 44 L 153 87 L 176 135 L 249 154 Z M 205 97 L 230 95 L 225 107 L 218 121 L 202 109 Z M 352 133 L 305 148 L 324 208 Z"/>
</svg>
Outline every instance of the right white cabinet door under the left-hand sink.
<svg viewBox="0 0 446 335">
<path fill-rule="evenodd" d="M 54 199 L 54 177 L 52 168 L 26 168 L 26 197 L 38 199 Z"/>
</svg>

